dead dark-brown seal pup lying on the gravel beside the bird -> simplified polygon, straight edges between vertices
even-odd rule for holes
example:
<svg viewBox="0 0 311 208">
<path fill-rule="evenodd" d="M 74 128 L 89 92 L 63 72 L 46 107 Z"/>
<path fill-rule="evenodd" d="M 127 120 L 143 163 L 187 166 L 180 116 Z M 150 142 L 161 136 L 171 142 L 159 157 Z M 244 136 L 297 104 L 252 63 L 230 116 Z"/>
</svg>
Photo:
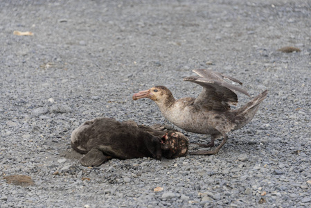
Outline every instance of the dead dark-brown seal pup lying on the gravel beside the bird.
<svg viewBox="0 0 311 208">
<path fill-rule="evenodd" d="M 86 121 L 71 134 L 71 146 L 86 154 L 83 166 L 100 166 L 107 159 L 137 157 L 176 158 L 188 152 L 188 138 L 176 130 L 150 128 L 134 121 L 111 118 Z"/>
</svg>

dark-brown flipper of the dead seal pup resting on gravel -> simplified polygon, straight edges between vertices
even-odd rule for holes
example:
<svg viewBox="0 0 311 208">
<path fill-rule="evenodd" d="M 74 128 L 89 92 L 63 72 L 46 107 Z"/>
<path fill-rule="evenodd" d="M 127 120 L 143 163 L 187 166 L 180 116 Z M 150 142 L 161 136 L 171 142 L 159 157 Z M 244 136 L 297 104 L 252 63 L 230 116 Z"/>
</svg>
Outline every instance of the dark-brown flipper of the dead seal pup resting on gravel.
<svg viewBox="0 0 311 208">
<path fill-rule="evenodd" d="M 80 159 L 80 163 L 82 166 L 100 166 L 105 162 L 108 158 L 103 154 L 102 151 L 98 149 L 92 149 Z"/>
</svg>

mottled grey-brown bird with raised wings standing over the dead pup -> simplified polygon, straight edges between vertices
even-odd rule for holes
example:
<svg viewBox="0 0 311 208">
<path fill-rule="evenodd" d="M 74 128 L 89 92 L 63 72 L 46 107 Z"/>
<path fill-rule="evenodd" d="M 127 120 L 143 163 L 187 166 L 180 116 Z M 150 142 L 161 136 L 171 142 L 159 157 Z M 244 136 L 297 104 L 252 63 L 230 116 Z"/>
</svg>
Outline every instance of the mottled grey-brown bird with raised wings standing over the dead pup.
<svg viewBox="0 0 311 208">
<path fill-rule="evenodd" d="M 242 83 L 236 78 L 209 69 L 194 69 L 193 72 L 197 73 L 197 76 L 188 76 L 184 81 L 203 87 L 197 98 L 175 99 L 172 92 L 164 86 L 140 91 L 132 98 L 133 100 L 150 98 L 170 123 L 186 132 L 211 135 L 209 144 L 199 144 L 199 146 L 213 147 L 215 139 L 223 137 L 220 145 L 213 150 L 202 149 L 189 153 L 190 155 L 215 155 L 228 140 L 229 132 L 242 128 L 254 118 L 259 104 L 267 97 L 268 90 L 265 89 L 242 107 L 231 110 L 231 105 L 238 103 L 236 92 L 251 96 L 245 89 L 227 83 L 225 80 L 240 85 Z"/>
</svg>

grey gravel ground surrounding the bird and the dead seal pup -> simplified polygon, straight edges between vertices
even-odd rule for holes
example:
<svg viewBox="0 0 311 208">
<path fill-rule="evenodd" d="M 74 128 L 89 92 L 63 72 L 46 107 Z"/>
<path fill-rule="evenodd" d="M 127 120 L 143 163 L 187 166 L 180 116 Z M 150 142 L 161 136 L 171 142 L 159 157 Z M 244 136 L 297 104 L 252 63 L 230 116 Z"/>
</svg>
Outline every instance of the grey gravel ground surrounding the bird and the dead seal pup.
<svg viewBox="0 0 311 208">
<path fill-rule="evenodd" d="M 310 1 L 5 0 L 0 8 L 1 208 L 311 206 Z M 238 78 L 252 96 L 269 89 L 218 155 L 80 165 L 73 129 L 97 116 L 168 123 L 132 94 L 166 85 L 177 98 L 197 96 L 199 86 L 181 81 L 197 68 Z M 34 184 L 8 184 L 10 175 Z"/>
</svg>

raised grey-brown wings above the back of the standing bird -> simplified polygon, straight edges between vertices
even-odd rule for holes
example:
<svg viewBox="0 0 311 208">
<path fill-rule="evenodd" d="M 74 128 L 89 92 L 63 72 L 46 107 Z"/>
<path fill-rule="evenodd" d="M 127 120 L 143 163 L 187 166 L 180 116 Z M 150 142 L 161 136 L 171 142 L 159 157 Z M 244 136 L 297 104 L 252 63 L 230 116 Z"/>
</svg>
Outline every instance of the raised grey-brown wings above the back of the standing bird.
<svg viewBox="0 0 311 208">
<path fill-rule="evenodd" d="M 226 111 L 230 110 L 230 105 L 236 105 L 238 103 L 238 96 L 233 91 L 249 96 L 244 89 L 224 81 L 224 78 L 227 78 L 242 85 L 235 78 L 206 69 L 195 69 L 193 71 L 199 76 L 189 76 L 184 78 L 184 81 L 197 83 L 203 87 L 203 91 L 195 99 L 196 105 L 206 107 L 208 110 Z"/>
</svg>

